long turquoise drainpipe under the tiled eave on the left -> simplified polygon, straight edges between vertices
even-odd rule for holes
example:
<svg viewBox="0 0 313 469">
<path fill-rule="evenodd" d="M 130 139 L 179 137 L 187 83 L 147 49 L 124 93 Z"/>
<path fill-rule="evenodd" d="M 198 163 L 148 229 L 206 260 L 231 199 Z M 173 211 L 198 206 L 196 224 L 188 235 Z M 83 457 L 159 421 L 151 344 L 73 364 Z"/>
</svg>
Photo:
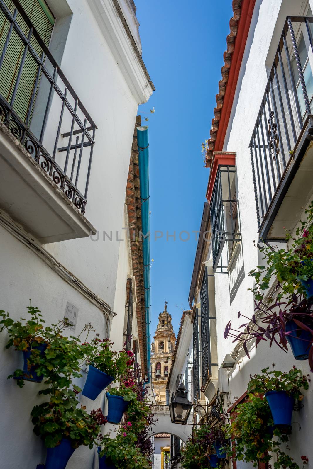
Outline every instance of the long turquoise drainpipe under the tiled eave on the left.
<svg viewBox="0 0 313 469">
<path fill-rule="evenodd" d="M 149 221 L 149 151 L 148 126 L 137 127 L 137 145 L 139 159 L 139 181 L 141 199 L 142 251 L 145 286 L 145 327 L 147 348 L 147 377 L 145 385 L 151 381 L 151 301 L 150 301 L 150 221 Z"/>
</svg>

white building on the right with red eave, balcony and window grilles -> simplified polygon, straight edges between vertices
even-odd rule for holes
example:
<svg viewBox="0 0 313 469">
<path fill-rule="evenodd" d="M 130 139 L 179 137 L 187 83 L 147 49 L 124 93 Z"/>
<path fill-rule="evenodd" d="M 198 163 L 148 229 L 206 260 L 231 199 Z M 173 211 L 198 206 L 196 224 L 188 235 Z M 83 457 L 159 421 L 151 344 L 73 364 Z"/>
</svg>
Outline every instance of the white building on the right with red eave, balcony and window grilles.
<svg viewBox="0 0 313 469">
<path fill-rule="evenodd" d="M 214 405 L 219 391 L 226 412 L 242 401 L 250 374 L 272 363 L 277 370 L 296 365 L 303 374 L 310 371 L 307 360 L 296 361 L 291 351 L 269 348 L 269 342 L 256 349 L 252 341 L 248 359 L 223 333 L 229 321 L 234 329 L 246 322 L 238 311 L 248 318 L 254 312 L 248 273 L 262 256 L 253 241 L 285 247 L 285 228 L 295 232 L 313 197 L 313 2 L 235 0 L 233 10 L 207 143 L 207 201 L 189 293 L 192 399 Z M 177 375 L 189 347 L 188 340 L 178 346 L 172 368 Z M 221 366 L 227 354 L 236 362 L 229 371 Z M 169 379 L 170 392 L 176 376 Z M 304 408 L 293 414 L 289 453 L 300 466 L 302 454 L 310 464 L 313 458 L 312 397 L 310 384 Z M 237 461 L 238 469 L 244 467 Z"/>
</svg>

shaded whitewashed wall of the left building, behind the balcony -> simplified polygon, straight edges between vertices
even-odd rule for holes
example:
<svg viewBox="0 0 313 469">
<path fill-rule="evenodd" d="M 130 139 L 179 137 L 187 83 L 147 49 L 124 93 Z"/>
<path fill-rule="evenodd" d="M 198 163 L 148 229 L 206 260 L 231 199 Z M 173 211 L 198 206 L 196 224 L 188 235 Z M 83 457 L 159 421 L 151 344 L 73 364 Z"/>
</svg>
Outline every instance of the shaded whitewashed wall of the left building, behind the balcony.
<svg viewBox="0 0 313 469">
<path fill-rule="evenodd" d="M 99 17 L 94 15 L 93 1 L 55 0 L 48 3 L 57 18 L 51 50 L 61 61 L 63 73 L 98 127 L 85 216 L 98 230 L 99 239 L 94 241 L 97 239 L 95 235 L 93 241 L 90 238 L 76 239 L 47 244 L 45 248 L 115 310 L 117 316 L 112 338 L 119 350 L 123 340 L 126 280 L 130 264 L 127 244 L 117 241 L 116 231 L 121 238 L 121 233 L 124 233 L 125 190 L 137 106 L 148 99 L 152 90 L 147 80 L 146 83 L 137 83 L 139 79 L 135 75 L 131 76 L 130 68 L 125 71 L 122 57 L 120 61 L 116 60 L 117 52 L 112 49 L 112 44 L 108 44 L 104 29 L 100 28 Z M 98 6 L 100 4 L 102 1 L 98 2 Z M 111 1 L 106 1 L 104 5 L 110 6 Z M 128 1 L 125 8 L 129 8 Z M 111 13 L 114 11 L 112 9 Z M 115 21 L 118 23 L 119 20 L 115 18 Z M 131 27 L 136 30 L 136 24 Z M 123 29 L 120 31 L 121 37 L 122 32 Z M 140 46 L 138 37 L 136 41 Z M 124 49 L 127 55 L 130 42 L 126 39 Z M 140 90 L 134 92 L 136 86 L 137 89 L 142 87 L 142 96 L 139 96 Z M 55 126 L 55 122 L 51 125 Z M 112 242 L 103 241 L 104 231 L 113 232 Z M 31 298 L 32 305 L 38 306 L 47 324 L 51 324 L 63 318 L 69 302 L 78 309 L 76 330 L 91 322 L 100 337 L 107 336 L 110 325 L 97 306 L 69 286 L 2 227 L 0 236 L 0 309 L 8 310 L 15 319 L 25 317 Z M 136 327 L 134 314 L 134 330 L 137 334 Z M 38 399 L 37 396 L 41 385 L 26 383 L 23 389 L 19 389 L 13 380 L 7 380 L 15 368 L 21 367 L 22 354 L 13 348 L 6 350 L 6 341 L 6 334 L 0 334 L 1 464 L 6 469 L 35 468 L 38 463 L 45 461 L 46 450 L 32 431 L 30 412 L 44 398 Z M 84 379 L 85 375 L 79 380 L 81 387 Z M 103 407 L 103 393 L 94 402 L 84 396 L 80 400 L 88 411 Z M 67 467 L 97 468 L 96 459 L 94 451 L 80 447 L 74 452 Z"/>
</svg>

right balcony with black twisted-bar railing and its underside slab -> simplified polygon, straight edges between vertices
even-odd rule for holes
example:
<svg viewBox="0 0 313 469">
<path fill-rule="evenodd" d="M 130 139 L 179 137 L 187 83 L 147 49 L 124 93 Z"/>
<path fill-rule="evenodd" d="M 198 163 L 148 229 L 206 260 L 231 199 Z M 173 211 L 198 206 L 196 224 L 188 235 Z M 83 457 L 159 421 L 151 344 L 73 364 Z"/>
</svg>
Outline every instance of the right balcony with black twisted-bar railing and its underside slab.
<svg viewBox="0 0 313 469">
<path fill-rule="evenodd" d="M 313 18 L 287 17 L 250 151 L 260 238 L 284 241 L 312 198 Z"/>
</svg>

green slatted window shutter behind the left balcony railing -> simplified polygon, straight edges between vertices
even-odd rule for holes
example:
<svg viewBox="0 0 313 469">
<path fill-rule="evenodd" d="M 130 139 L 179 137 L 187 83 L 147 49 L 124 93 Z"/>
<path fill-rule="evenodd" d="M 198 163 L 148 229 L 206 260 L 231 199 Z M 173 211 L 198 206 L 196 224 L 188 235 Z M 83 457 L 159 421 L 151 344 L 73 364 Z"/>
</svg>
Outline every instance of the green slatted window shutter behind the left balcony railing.
<svg viewBox="0 0 313 469">
<path fill-rule="evenodd" d="M 7 5 L 8 9 L 11 13 L 14 12 L 14 4 L 11 0 L 4 0 L 5 4 Z M 40 38 L 45 42 L 46 46 L 49 46 L 54 18 L 47 7 L 44 0 L 20 0 L 22 7 L 24 8 L 26 14 L 31 19 L 34 27 L 38 31 Z M 18 13 L 16 17 L 16 21 L 20 26 L 21 30 L 27 37 L 29 33 L 29 28 L 27 27 L 26 23 L 24 22 L 22 16 Z M 9 22 L 5 18 L 5 15 L 0 12 L 0 54 L 2 53 L 7 34 L 9 29 Z M 31 38 L 31 45 L 38 53 L 40 57 L 42 54 L 42 49 L 39 46 L 37 40 L 32 37 Z M 22 40 L 18 37 L 15 30 L 12 31 L 8 48 L 4 57 L 4 61 L 2 67 L 0 68 L 0 93 L 8 102 L 10 102 L 12 98 L 12 93 L 14 90 L 14 86 L 16 83 L 17 74 L 19 71 L 19 67 L 21 65 L 21 61 L 23 58 L 24 53 L 24 45 Z M 26 121 L 28 108 L 31 102 L 31 96 L 34 90 L 36 76 L 38 73 L 38 66 L 31 53 L 27 52 L 23 71 L 20 79 L 20 83 L 17 89 L 15 101 L 13 108 L 18 116 L 22 119 L 22 121 Z M 40 82 L 40 77 L 38 81 L 38 85 Z M 38 91 L 35 93 L 35 99 Z M 35 99 L 33 102 L 33 106 L 31 109 L 31 114 L 33 111 Z M 31 115 L 30 120 L 31 121 Z"/>
</svg>

